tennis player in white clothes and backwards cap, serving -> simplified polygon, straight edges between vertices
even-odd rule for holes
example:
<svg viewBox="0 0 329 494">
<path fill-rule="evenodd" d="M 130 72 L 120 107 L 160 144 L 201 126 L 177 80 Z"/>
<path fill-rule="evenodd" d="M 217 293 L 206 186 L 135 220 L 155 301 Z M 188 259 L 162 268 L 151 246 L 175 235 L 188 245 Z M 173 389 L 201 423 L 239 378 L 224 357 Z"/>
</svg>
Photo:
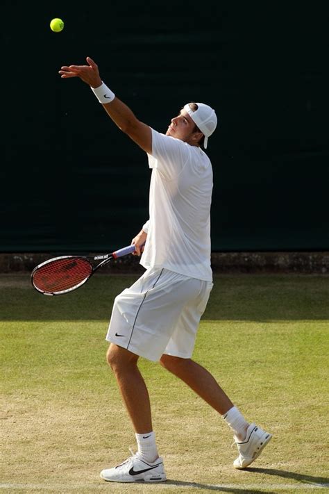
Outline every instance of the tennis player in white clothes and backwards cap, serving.
<svg viewBox="0 0 329 494">
<path fill-rule="evenodd" d="M 160 361 L 208 402 L 232 429 L 246 468 L 259 456 L 271 434 L 246 421 L 214 377 L 194 362 L 196 330 L 212 290 L 210 204 L 212 165 L 203 149 L 217 126 L 214 110 L 185 104 L 165 134 L 140 122 L 101 80 L 99 68 L 61 67 L 62 79 L 80 77 L 90 85 L 115 124 L 147 153 L 151 173 L 149 220 L 132 243 L 146 271 L 115 299 L 106 339 L 107 359 L 130 415 L 137 453 L 102 470 L 107 481 L 165 481 L 152 427 L 149 393 L 137 367 L 140 356 Z M 144 247 L 143 247 L 144 246 Z"/>
</svg>

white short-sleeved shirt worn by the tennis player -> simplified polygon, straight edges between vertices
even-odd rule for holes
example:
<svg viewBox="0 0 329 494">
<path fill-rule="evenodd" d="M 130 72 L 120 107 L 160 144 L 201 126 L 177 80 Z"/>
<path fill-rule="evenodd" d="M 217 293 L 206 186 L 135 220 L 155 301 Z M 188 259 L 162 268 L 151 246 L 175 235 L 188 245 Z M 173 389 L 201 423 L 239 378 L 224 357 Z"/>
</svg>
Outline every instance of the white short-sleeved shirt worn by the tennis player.
<svg viewBox="0 0 329 494">
<path fill-rule="evenodd" d="M 152 130 L 147 239 L 140 263 L 212 281 L 212 165 L 200 147 Z"/>
</svg>

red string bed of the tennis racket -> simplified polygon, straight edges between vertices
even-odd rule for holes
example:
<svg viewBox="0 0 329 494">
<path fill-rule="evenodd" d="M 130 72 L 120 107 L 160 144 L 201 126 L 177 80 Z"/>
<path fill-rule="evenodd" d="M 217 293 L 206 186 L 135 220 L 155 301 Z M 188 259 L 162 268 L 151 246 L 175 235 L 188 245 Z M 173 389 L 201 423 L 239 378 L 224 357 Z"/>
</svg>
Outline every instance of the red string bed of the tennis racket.
<svg viewBox="0 0 329 494">
<path fill-rule="evenodd" d="M 62 258 L 46 263 L 33 274 L 38 290 L 56 293 L 69 290 L 86 281 L 92 274 L 92 265 L 83 258 Z"/>
</svg>

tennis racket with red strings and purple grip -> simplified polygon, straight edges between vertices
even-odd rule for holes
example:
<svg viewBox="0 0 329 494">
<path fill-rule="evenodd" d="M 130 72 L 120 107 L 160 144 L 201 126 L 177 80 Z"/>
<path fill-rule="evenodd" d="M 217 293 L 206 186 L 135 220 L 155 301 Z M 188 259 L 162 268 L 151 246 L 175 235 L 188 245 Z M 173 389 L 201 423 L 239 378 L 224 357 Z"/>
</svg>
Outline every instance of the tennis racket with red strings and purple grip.
<svg viewBox="0 0 329 494">
<path fill-rule="evenodd" d="M 61 256 L 37 265 L 31 272 L 33 288 L 43 295 L 63 295 L 80 288 L 99 267 L 111 259 L 117 259 L 135 252 L 135 245 L 128 245 L 111 254 L 102 256 Z M 101 262 L 95 266 L 90 261 Z"/>
</svg>

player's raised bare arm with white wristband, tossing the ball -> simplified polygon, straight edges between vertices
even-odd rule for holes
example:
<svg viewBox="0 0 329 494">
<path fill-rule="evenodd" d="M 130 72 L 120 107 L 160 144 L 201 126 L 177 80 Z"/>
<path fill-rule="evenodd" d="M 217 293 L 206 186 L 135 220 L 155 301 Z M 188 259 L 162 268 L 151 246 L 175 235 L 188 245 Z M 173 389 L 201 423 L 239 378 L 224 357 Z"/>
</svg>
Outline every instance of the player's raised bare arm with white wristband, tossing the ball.
<svg viewBox="0 0 329 494">
<path fill-rule="evenodd" d="M 79 77 L 83 82 L 90 85 L 96 98 L 119 129 L 129 135 L 146 153 L 151 153 L 152 133 L 150 127 L 140 122 L 133 111 L 103 83 L 99 74 L 99 67 L 94 60 L 90 57 L 87 57 L 86 60 L 88 65 L 63 65 L 59 71 L 62 79 Z"/>
</svg>

